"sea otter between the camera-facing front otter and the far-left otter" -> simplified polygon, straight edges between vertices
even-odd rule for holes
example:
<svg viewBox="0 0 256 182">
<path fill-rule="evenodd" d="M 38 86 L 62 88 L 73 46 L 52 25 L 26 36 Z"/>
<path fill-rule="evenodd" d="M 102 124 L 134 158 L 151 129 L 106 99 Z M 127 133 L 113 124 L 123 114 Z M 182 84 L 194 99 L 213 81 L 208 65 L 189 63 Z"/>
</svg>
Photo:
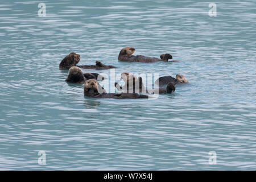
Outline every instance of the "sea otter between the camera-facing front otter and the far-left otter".
<svg viewBox="0 0 256 182">
<path fill-rule="evenodd" d="M 73 66 L 69 69 L 68 78 L 65 81 L 76 84 L 84 84 L 86 80 L 98 78 L 100 80 L 104 80 L 104 77 L 102 77 L 98 73 L 82 73 L 81 68 Z"/>
</svg>

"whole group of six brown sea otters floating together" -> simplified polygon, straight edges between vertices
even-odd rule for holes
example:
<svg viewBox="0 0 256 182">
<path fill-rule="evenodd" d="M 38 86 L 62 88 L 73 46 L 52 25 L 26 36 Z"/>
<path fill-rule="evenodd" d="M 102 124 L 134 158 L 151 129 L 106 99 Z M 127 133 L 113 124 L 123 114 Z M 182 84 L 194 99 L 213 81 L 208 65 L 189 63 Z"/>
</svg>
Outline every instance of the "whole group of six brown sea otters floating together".
<svg viewBox="0 0 256 182">
<path fill-rule="evenodd" d="M 119 61 L 153 63 L 157 61 L 168 61 L 172 56 L 168 53 L 160 55 L 160 59 L 156 57 L 147 57 L 143 55 L 133 56 L 135 48 L 122 48 L 118 55 Z M 159 93 L 171 94 L 175 91 L 176 84 L 187 83 L 188 80 L 183 75 L 176 75 L 176 78 L 164 76 L 155 81 L 158 88 L 147 89 L 143 85 L 141 77 L 136 77 L 133 73 L 122 73 L 121 78 L 125 85 L 120 86 L 115 82 L 115 88 L 119 93 L 107 93 L 106 90 L 98 83 L 97 80 L 104 80 L 104 77 L 98 73 L 83 73 L 82 69 L 112 69 L 117 68 L 113 65 L 105 65 L 100 61 L 96 61 L 95 65 L 77 65 L 80 61 L 80 55 L 75 52 L 69 53 L 60 63 L 60 69 L 69 69 L 67 82 L 76 84 L 84 84 L 84 96 L 95 98 L 148 98 L 148 95 L 141 93 Z M 169 61 L 177 62 L 177 61 Z M 81 69 L 82 68 L 82 69 Z"/>
</svg>

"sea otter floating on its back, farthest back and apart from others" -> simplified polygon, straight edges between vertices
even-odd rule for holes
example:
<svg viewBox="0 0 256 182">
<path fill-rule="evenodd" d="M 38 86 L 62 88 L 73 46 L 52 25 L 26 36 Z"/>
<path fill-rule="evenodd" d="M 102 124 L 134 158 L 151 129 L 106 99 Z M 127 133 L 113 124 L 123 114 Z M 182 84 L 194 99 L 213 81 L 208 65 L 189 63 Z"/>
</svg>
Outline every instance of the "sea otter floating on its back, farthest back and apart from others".
<svg viewBox="0 0 256 182">
<path fill-rule="evenodd" d="M 168 61 L 168 59 L 172 59 L 172 55 L 166 53 L 160 56 L 160 59 L 156 57 L 147 57 L 143 55 L 133 56 L 132 54 L 135 52 L 135 48 L 127 46 L 122 48 L 118 55 L 118 60 L 120 61 L 128 61 L 128 62 L 140 62 L 140 63 L 154 63 L 158 61 Z M 177 61 L 170 61 L 177 62 Z"/>
</svg>

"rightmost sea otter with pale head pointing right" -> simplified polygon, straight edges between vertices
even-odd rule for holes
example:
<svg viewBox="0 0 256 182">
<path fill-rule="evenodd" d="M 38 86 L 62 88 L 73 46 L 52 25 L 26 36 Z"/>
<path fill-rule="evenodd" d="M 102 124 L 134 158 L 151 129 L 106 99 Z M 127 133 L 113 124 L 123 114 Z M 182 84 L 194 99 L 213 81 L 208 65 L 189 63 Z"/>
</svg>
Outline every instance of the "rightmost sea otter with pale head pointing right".
<svg viewBox="0 0 256 182">
<path fill-rule="evenodd" d="M 155 84 L 158 86 L 164 86 L 167 85 L 168 83 L 172 83 L 174 85 L 180 84 L 180 83 L 188 83 L 188 79 L 184 75 L 177 74 L 176 78 L 171 77 L 171 76 L 163 76 L 158 78 L 158 80 L 155 81 Z"/>
</svg>

